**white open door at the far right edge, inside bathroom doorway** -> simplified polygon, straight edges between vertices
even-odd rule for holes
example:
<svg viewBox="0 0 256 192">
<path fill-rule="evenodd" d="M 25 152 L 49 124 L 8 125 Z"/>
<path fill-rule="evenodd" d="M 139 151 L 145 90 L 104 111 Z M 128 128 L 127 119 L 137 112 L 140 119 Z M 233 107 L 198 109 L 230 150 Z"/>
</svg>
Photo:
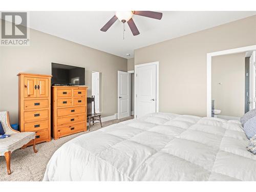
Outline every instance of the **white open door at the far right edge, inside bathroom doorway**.
<svg viewBox="0 0 256 192">
<path fill-rule="evenodd" d="M 250 105 L 249 109 L 255 109 L 256 102 L 256 71 L 255 71 L 255 61 L 256 61 L 255 51 L 252 52 L 250 56 Z"/>
</svg>

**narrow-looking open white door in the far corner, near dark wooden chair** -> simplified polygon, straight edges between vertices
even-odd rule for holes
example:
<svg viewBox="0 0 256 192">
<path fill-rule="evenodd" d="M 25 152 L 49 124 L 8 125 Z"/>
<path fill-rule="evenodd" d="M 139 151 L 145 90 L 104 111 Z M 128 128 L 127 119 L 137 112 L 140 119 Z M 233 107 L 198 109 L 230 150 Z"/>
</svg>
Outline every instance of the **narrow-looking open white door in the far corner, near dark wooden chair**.
<svg viewBox="0 0 256 192">
<path fill-rule="evenodd" d="M 121 119 L 130 116 L 130 73 L 118 71 L 118 113 Z"/>
</svg>

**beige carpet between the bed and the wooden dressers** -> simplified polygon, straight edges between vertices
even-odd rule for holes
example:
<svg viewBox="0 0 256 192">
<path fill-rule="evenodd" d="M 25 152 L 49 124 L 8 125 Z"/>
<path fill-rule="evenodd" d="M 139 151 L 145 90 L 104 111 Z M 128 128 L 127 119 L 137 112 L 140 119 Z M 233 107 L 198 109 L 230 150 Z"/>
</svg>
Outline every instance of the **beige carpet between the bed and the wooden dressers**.
<svg viewBox="0 0 256 192">
<path fill-rule="evenodd" d="M 119 120 L 106 121 L 103 122 L 102 125 L 104 127 L 132 118 L 133 116 Z M 98 129 L 100 129 L 99 124 L 92 125 L 90 132 Z M 32 146 L 24 148 L 23 150 L 14 151 L 11 156 L 11 175 L 7 175 L 5 157 L 0 156 L 0 181 L 41 181 L 45 174 L 46 165 L 53 153 L 67 141 L 90 132 L 82 132 L 57 140 L 52 139 L 50 142 L 37 144 L 36 149 L 38 152 L 36 154 L 33 152 Z"/>
</svg>

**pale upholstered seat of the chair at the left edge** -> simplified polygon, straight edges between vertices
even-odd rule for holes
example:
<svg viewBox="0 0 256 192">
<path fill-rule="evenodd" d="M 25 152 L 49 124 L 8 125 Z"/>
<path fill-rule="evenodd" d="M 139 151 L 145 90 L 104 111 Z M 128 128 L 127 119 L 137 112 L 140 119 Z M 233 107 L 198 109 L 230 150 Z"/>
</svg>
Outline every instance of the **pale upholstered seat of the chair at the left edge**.
<svg viewBox="0 0 256 192">
<path fill-rule="evenodd" d="M 11 137 L 0 140 L 0 156 L 5 152 L 15 151 L 35 138 L 35 132 L 21 132 L 10 134 Z"/>
</svg>

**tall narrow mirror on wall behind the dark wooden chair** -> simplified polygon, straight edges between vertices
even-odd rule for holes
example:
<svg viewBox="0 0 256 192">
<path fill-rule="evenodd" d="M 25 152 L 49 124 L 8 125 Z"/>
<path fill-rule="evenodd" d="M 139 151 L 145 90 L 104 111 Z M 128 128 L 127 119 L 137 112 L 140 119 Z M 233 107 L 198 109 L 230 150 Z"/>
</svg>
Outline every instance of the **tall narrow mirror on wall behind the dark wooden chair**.
<svg viewBox="0 0 256 192">
<path fill-rule="evenodd" d="M 95 96 L 95 112 L 99 113 L 99 72 L 92 72 L 92 95 Z"/>
</svg>

